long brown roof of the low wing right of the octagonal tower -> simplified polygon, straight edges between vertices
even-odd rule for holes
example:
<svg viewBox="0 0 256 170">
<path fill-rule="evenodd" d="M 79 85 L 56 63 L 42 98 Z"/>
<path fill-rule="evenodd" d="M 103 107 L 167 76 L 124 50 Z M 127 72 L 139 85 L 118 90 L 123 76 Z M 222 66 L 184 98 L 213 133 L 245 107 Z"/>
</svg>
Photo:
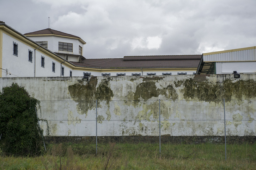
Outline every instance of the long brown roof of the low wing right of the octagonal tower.
<svg viewBox="0 0 256 170">
<path fill-rule="evenodd" d="M 190 68 L 199 65 L 202 55 L 182 56 L 125 56 L 124 58 L 84 59 L 77 66 L 95 68 Z M 189 57 L 188 57 L 189 56 Z M 127 59 L 130 58 L 130 59 Z"/>
</svg>

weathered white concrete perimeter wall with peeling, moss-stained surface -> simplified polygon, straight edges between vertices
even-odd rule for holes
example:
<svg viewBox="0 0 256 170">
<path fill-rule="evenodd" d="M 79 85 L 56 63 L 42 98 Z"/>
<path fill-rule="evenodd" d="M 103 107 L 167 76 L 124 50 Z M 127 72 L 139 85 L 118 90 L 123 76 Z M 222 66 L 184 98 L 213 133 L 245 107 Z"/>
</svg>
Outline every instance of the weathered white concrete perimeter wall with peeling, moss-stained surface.
<svg viewBox="0 0 256 170">
<path fill-rule="evenodd" d="M 256 74 L 0 78 L 40 100 L 49 136 L 223 136 L 256 134 Z M 46 121 L 41 121 L 46 135 Z"/>
</svg>

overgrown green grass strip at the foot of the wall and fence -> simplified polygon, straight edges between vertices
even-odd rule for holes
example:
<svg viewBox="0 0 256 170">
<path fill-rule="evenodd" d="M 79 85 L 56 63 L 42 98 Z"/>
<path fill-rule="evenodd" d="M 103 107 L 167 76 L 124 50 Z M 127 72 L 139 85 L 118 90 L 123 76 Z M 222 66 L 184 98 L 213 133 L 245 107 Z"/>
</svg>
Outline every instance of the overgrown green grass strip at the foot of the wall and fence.
<svg viewBox="0 0 256 170">
<path fill-rule="evenodd" d="M 7 157 L 0 169 L 256 169 L 256 144 L 48 144 L 37 157 Z"/>
</svg>

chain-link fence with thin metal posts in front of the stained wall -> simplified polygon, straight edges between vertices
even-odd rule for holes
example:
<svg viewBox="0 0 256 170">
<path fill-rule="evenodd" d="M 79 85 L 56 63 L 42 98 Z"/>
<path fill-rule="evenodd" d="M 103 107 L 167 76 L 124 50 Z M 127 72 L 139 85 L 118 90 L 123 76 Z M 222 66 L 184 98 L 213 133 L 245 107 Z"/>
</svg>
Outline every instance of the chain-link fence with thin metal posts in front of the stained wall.
<svg viewBox="0 0 256 170">
<path fill-rule="evenodd" d="M 75 140 L 91 137 L 86 139 L 96 142 L 96 150 L 97 143 L 114 140 L 161 144 L 175 142 L 175 138 L 176 143 L 186 140 L 196 143 L 195 138 L 199 142 L 223 142 L 225 134 L 238 140 L 255 137 L 256 100 L 224 102 L 40 101 L 37 113 L 44 136 L 75 137 Z"/>
</svg>

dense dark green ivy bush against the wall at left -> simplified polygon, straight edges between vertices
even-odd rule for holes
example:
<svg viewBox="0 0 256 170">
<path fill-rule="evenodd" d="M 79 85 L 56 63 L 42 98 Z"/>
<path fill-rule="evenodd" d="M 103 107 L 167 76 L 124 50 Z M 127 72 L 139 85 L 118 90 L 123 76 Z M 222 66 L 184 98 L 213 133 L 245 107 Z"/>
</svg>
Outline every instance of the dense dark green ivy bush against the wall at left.
<svg viewBox="0 0 256 170">
<path fill-rule="evenodd" d="M 36 156 L 43 150 L 43 132 L 35 112 L 39 103 L 17 83 L 0 92 L 0 147 L 6 155 Z"/>
</svg>

